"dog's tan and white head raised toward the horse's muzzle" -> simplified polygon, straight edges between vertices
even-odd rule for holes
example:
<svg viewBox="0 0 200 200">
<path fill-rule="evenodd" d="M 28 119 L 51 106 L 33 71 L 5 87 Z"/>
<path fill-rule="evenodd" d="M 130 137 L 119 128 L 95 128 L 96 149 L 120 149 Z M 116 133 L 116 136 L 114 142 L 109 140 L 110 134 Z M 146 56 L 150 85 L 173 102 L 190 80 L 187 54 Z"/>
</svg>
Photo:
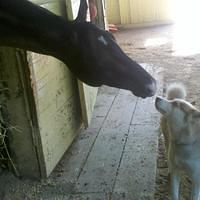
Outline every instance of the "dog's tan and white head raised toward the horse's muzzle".
<svg viewBox="0 0 200 200">
<path fill-rule="evenodd" d="M 183 99 L 157 97 L 156 109 L 167 119 L 170 137 L 180 144 L 191 144 L 200 131 L 200 111 Z"/>
</svg>

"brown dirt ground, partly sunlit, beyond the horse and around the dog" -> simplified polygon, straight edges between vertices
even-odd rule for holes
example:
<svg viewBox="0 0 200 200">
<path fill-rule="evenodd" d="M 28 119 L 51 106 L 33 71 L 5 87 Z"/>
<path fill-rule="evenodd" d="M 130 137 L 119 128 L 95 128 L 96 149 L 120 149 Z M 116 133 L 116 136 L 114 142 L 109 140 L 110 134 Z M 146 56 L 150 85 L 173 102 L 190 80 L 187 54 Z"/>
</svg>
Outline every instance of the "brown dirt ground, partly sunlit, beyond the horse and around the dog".
<svg viewBox="0 0 200 200">
<path fill-rule="evenodd" d="M 130 57 L 139 63 L 148 63 L 154 66 L 163 79 L 161 93 L 164 93 L 167 84 L 182 82 L 188 91 L 187 100 L 194 102 L 197 108 L 200 108 L 200 54 L 199 52 L 193 52 L 193 54 L 187 52 L 193 50 L 191 45 L 191 48 L 188 47 L 187 49 L 185 44 L 192 42 L 193 35 L 186 35 L 182 39 L 182 35 L 175 35 L 176 31 L 175 25 L 166 25 L 138 29 L 134 32 L 124 30 L 117 33 L 116 36 L 120 45 Z M 175 46 L 177 38 L 179 45 L 181 44 L 179 48 Z M 187 41 L 184 39 L 187 39 Z M 184 52 L 183 49 L 185 49 Z M 169 198 L 169 178 L 162 136 L 159 139 L 158 152 L 155 199 L 166 200 Z M 190 182 L 187 178 L 184 178 L 181 191 L 182 199 L 189 199 Z"/>
</svg>

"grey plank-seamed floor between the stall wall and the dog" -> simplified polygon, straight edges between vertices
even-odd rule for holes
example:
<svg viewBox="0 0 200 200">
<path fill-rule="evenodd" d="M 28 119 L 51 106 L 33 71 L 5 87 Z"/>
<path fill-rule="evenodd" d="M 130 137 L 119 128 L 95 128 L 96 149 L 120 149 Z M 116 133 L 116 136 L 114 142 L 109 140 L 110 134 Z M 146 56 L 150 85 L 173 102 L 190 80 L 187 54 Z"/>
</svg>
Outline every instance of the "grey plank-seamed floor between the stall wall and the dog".
<svg viewBox="0 0 200 200">
<path fill-rule="evenodd" d="M 38 183 L 3 173 L 0 199 L 154 199 L 158 122 L 154 98 L 102 87 L 90 127 L 51 177 Z"/>
</svg>

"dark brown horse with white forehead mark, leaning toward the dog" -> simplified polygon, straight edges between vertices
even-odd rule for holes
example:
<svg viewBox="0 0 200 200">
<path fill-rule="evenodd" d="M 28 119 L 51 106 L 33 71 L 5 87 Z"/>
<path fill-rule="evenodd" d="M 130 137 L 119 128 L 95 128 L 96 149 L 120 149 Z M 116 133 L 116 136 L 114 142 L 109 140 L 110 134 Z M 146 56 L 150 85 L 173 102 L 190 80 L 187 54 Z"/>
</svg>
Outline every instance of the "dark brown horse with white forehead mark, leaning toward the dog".
<svg viewBox="0 0 200 200">
<path fill-rule="evenodd" d="M 66 21 L 27 0 L 0 0 L 0 45 L 54 56 L 91 86 L 127 89 L 139 97 L 156 92 L 156 81 L 117 45 L 114 37 L 85 22 L 87 3 Z"/>
</svg>

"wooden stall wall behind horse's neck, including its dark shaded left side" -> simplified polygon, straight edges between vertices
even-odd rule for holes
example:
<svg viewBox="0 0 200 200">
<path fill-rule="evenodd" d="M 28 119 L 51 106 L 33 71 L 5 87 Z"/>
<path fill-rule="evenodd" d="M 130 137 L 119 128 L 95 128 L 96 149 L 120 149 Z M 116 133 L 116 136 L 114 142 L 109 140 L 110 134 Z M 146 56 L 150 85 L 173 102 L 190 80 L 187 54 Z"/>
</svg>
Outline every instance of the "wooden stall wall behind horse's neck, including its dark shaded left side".
<svg viewBox="0 0 200 200">
<path fill-rule="evenodd" d="M 48 2 L 42 6 L 66 14 L 63 1 Z M 8 87 L 9 149 L 17 172 L 46 177 L 82 125 L 77 79 L 53 57 L 14 48 L 0 48 L 0 69 Z"/>
</svg>

